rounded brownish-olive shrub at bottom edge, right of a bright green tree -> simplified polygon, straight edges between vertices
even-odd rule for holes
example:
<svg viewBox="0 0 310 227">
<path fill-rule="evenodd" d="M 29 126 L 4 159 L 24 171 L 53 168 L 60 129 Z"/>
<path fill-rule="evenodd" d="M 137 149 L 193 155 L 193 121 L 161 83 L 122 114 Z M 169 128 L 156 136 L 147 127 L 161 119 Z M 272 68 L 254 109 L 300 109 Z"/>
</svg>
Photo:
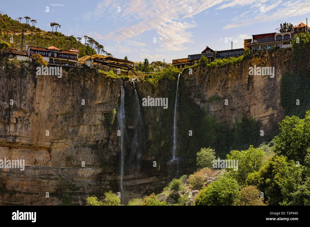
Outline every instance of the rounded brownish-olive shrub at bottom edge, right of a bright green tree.
<svg viewBox="0 0 310 227">
<path fill-rule="evenodd" d="M 239 206 L 266 206 L 263 198 L 260 198 L 260 191 L 256 186 L 246 186 L 241 189 L 239 198 Z"/>
</svg>

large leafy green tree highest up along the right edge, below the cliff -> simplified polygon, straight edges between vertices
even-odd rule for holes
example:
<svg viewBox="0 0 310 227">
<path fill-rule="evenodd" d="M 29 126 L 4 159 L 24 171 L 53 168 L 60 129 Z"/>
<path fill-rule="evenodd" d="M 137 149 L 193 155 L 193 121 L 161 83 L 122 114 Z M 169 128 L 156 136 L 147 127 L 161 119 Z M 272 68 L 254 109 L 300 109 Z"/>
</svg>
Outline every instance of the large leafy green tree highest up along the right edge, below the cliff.
<svg viewBox="0 0 310 227">
<path fill-rule="evenodd" d="M 279 123 L 279 128 L 280 133 L 275 137 L 276 145 L 273 151 L 303 164 L 310 147 L 310 111 L 306 112 L 305 119 L 286 116 Z"/>
</svg>

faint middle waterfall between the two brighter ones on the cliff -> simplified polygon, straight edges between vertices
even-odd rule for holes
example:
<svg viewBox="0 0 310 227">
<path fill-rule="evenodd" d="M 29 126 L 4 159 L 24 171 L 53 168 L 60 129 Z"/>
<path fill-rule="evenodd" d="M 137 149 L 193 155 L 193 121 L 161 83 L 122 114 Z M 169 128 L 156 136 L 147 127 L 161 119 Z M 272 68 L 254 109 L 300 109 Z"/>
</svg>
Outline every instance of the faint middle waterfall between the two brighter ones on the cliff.
<svg viewBox="0 0 310 227">
<path fill-rule="evenodd" d="M 134 89 L 135 89 L 136 105 L 137 105 L 137 113 L 136 113 L 136 119 L 135 119 L 135 132 L 134 132 L 134 136 L 133 136 L 133 139 L 132 139 L 132 149 L 133 149 L 133 151 L 135 151 L 135 153 L 138 156 L 138 163 L 137 163 L 137 165 L 138 165 L 138 168 L 139 168 L 141 152 L 140 152 L 140 149 L 139 149 L 138 134 L 139 134 L 139 121 L 141 119 L 141 109 L 140 109 L 140 101 L 139 101 L 138 92 L 137 92 L 137 89 L 135 88 L 135 80 L 136 79 L 132 79 L 131 80 L 133 82 Z"/>
</svg>

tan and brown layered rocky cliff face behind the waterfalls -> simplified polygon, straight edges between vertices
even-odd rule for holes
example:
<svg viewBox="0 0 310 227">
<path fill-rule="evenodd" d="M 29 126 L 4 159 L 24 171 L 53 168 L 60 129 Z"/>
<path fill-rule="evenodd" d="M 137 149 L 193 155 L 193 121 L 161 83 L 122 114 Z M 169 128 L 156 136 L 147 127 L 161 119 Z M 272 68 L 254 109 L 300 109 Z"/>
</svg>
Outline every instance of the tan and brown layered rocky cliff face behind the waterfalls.
<svg viewBox="0 0 310 227">
<path fill-rule="evenodd" d="M 289 50 L 274 54 L 254 54 L 250 60 L 221 68 L 194 67 L 193 74 L 184 71 L 177 104 L 177 161 L 170 161 L 176 81 L 160 81 L 156 87 L 144 80 L 135 83 L 141 108 L 139 127 L 133 83 L 124 81 L 122 196 L 128 200 L 159 192 L 171 178 L 192 172 L 196 153 L 209 145 L 207 136 L 201 136 L 208 131 L 202 127 L 204 116 L 215 116 L 232 127 L 235 119 L 246 114 L 269 133 L 284 117 L 280 79 L 290 70 L 292 57 Z M 275 77 L 249 76 L 248 69 L 255 64 L 274 66 Z M 81 203 L 86 196 L 103 198 L 104 191 L 119 192 L 121 154 L 115 111 L 122 80 L 88 68 L 63 68 L 62 78 L 57 78 L 37 76 L 35 67 L 27 63 L 13 69 L 2 66 L 0 159 L 22 159 L 26 167 L 24 171 L 0 169 L 0 202 L 49 205 L 57 204 L 59 197 Z M 168 98 L 168 108 L 142 106 L 147 96 Z M 135 135 L 141 151 L 139 164 L 132 143 Z"/>
</svg>

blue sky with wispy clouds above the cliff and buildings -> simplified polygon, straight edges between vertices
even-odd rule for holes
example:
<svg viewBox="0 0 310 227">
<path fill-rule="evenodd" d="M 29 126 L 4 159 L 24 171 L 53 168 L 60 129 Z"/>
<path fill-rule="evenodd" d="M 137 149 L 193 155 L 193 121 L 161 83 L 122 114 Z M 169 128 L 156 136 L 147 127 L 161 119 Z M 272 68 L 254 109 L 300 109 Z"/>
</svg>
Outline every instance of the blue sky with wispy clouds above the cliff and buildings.
<svg viewBox="0 0 310 227">
<path fill-rule="evenodd" d="M 206 46 L 227 50 L 233 42 L 233 49 L 243 48 L 244 39 L 276 32 L 284 22 L 306 24 L 310 1 L 2 0 L 0 11 L 12 19 L 29 16 L 45 31 L 51 31 L 50 23 L 56 22 L 61 25 L 57 31 L 87 35 L 115 58 L 171 63 L 201 53 Z"/>
</svg>

